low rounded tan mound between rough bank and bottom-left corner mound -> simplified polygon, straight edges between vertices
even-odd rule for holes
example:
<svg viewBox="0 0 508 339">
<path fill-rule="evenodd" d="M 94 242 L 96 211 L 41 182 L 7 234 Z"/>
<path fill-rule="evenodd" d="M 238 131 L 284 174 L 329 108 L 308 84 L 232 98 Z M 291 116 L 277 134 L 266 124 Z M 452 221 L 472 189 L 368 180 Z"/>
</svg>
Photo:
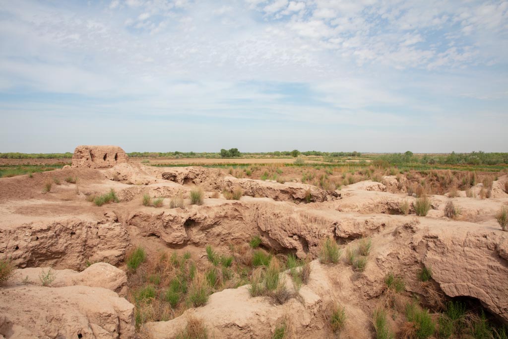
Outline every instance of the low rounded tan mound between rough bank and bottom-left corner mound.
<svg viewBox="0 0 508 339">
<path fill-rule="evenodd" d="M 15 282 L 29 282 L 32 285 L 42 286 L 39 276 L 47 273 L 51 268 L 22 268 L 15 271 Z M 99 262 L 90 265 L 81 272 L 72 269 L 53 270 L 54 281 L 51 287 L 63 286 L 90 286 L 103 287 L 120 295 L 127 292 L 127 275 L 121 269 L 108 263 Z"/>
</svg>

